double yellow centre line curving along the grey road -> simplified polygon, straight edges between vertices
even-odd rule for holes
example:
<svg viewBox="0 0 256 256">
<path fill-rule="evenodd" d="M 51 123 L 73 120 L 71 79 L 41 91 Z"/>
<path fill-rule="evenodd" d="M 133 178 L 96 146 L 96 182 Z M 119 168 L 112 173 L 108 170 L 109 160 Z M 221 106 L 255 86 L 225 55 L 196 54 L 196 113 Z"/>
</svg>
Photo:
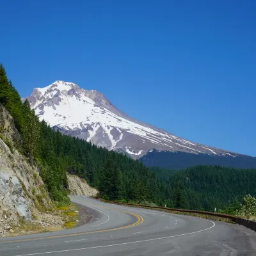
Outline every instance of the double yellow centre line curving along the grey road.
<svg viewBox="0 0 256 256">
<path fill-rule="evenodd" d="M 23 241 L 34 241 L 34 240 L 52 239 L 52 238 L 58 238 L 58 237 L 80 236 L 80 235 L 94 234 L 94 233 L 99 233 L 99 232 L 114 231 L 114 230 L 120 230 L 120 229 L 124 229 L 124 228 L 130 228 L 130 227 L 138 226 L 141 223 L 143 223 L 143 221 L 144 221 L 143 218 L 138 214 L 135 214 L 135 213 L 132 213 L 132 212 L 126 212 L 126 211 L 122 211 L 122 210 L 114 209 L 114 208 L 110 208 L 110 207 L 106 207 L 106 208 L 113 209 L 113 210 L 116 210 L 116 211 L 119 211 L 119 212 L 124 212 L 124 213 L 127 213 L 127 214 L 131 214 L 131 215 L 135 216 L 138 220 L 135 223 L 132 223 L 131 225 L 118 227 L 118 228 L 109 228 L 109 229 L 81 232 L 81 233 L 76 233 L 76 234 L 59 235 L 59 236 L 46 236 L 46 237 L 35 237 L 35 238 L 28 238 L 28 239 L 1 241 L 0 244 L 3 244 L 3 243 L 19 243 L 19 242 L 23 242 Z"/>
</svg>

